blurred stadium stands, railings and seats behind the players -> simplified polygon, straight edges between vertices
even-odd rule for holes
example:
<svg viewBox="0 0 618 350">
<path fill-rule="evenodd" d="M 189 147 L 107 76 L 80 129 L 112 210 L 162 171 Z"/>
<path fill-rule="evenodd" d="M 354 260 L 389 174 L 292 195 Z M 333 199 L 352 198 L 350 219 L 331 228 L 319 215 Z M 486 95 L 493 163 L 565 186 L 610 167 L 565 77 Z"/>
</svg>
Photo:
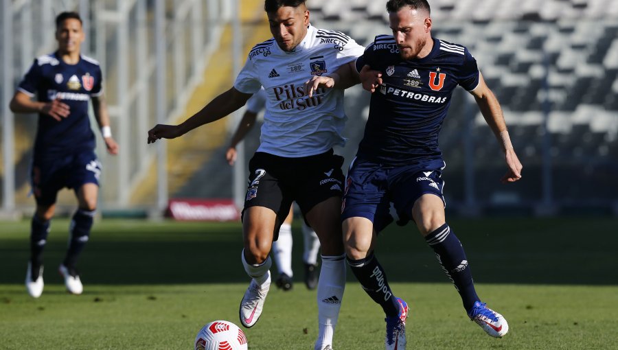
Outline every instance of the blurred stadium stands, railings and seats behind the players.
<svg viewBox="0 0 618 350">
<path fill-rule="evenodd" d="M 466 45 L 504 109 L 524 165 L 523 180 L 501 185 L 498 143 L 471 96 L 460 89 L 441 135 L 448 210 L 618 215 L 618 1 L 430 0 L 433 35 Z M 105 215 L 161 215 L 173 198 L 233 200 L 259 128 L 236 167 L 225 161 L 242 111 L 181 139 L 146 144 L 159 122 L 177 123 L 231 86 L 256 43 L 271 37 L 262 0 L 2 0 L 0 110 L 1 213 L 30 215 L 28 165 L 36 116 L 8 102 L 32 59 L 54 50 L 54 17 L 82 14 L 84 54 L 102 63 L 112 129 L 121 154 L 104 165 Z M 361 45 L 389 33 L 385 1 L 308 0 L 313 25 Z M 367 118 L 369 95 L 346 92 L 347 163 Z M 98 136 L 99 137 L 99 136 Z M 99 139 L 98 145 L 102 142 Z M 346 163 L 346 164 L 347 164 Z M 74 207 L 70 192 L 61 208 Z"/>
</svg>

